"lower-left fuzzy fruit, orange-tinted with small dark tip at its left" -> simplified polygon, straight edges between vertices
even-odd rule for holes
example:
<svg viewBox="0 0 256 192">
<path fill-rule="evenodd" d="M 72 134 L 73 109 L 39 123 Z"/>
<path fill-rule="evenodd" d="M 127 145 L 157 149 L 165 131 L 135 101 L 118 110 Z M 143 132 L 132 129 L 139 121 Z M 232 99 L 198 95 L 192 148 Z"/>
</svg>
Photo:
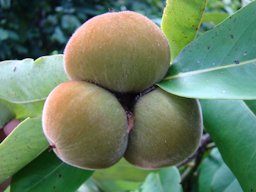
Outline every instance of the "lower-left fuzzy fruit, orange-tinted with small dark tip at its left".
<svg viewBox="0 0 256 192">
<path fill-rule="evenodd" d="M 43 131 L 56 155 L 84 169 L 116 163 L 127 147 L 127 118 L 108 91 L 82 81 L 57 86 L 43 110 Z"/>
</svg>

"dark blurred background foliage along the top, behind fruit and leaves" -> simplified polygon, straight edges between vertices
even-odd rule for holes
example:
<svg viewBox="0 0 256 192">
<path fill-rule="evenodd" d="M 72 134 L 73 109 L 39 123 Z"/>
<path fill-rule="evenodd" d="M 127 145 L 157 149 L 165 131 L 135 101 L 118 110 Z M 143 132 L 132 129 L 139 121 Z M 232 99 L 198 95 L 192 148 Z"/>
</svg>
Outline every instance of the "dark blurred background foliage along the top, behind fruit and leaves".
<svg viewBox="0 0 256 192">
<path fill-rule="evenodd" d="M 62 53 L 73 31 L 108 11 L 134 10 L 160 24 L 164 0 L 0 0 L 0 60 Z M 236 1 L 209 0 L 208 9 L 232 13 Z"/>
</svg>

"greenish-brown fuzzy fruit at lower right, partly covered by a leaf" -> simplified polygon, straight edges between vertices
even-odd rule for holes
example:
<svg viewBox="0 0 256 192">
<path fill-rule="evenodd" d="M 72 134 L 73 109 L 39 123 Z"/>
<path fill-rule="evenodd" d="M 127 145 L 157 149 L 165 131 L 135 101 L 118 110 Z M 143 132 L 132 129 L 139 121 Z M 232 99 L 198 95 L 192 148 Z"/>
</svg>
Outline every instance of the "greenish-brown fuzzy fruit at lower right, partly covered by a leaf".
<svg viewBox="0 0 256 192">
<path fill-rule="evenodd" d="M 197 100 L 157 88 L 137 101 L 134 115 L 125 153 L 130 163 L 144 169 L 171 166 L 198 148 L 202 115 Z"/>
</svg>

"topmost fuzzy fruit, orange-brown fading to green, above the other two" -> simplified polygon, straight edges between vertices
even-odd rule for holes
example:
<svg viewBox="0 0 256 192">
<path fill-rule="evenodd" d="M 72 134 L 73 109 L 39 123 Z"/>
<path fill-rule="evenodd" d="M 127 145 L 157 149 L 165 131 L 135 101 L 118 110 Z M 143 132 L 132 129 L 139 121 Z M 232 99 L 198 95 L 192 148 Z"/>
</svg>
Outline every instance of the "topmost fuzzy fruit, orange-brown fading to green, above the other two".
<svg viewBox="0 0 256 192">
<path fill-rule="evenodd" d="M 140 92 L 160 81 L 170 66 L 168 40 L 151 20 L 132 11 L 85 22 L 64 50 L 70 79 L 116 92 Z"/>
</svg>

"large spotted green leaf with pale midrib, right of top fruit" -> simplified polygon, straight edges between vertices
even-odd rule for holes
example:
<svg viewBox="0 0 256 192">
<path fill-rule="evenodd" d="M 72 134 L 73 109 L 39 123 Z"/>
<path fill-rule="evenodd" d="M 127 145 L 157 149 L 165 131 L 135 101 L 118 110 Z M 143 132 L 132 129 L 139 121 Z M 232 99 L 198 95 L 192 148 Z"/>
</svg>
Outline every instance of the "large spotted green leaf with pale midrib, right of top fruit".
<svg viewBox="0 0 256 192">
<path fill-rule="evenodd" d="M 256 99 L 256 2 L 189 44 L 159 86 L 201 99 Z"/>
</svg>

